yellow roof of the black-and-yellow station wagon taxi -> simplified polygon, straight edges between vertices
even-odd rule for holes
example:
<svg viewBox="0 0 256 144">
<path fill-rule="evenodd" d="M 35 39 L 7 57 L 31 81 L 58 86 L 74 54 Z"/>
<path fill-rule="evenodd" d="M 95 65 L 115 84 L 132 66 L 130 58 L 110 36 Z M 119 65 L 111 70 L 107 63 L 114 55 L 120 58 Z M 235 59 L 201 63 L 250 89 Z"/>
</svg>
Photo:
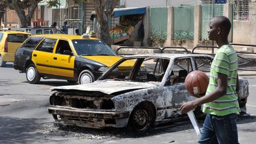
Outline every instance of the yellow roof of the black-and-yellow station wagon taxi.
<svg viewBox="0 0 256 144">
<path fill-rule="evenodd" d="M 32 37 L 48 37 L 48 38 L 69 39 L 69 40 L 84 39 L 81 36 L 72 35 L 72 34 L 38 34 Z M 88 40 L 98 40 L 98 39 L 89 37 Z"/>
</svg>

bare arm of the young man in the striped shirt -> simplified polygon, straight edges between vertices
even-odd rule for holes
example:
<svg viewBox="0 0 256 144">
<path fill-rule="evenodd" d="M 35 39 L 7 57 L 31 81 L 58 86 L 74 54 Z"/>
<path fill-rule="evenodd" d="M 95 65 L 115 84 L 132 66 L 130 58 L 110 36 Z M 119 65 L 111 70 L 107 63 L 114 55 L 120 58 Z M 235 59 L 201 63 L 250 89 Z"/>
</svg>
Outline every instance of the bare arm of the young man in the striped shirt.
<svg viewBox="0 0 256 144">
<path fill-rule="evenodd" d="M 188 101 L 184 103 L 183 105 L 181 105 L 181 111 L 183 113 L 187 113 L 188 111 L 191 111 L 194 108 L 196 108 L 198 105 L 209 103 L 210 101 L 217 100 L 217 98 L 225 95 L 228 88 L 228 75 L 218 73 L 217 83 L 218 86 L 215 89 L 215 91 L 210 92 L 210 94 L 198 98 L 197 100 Z"/>
</svg>

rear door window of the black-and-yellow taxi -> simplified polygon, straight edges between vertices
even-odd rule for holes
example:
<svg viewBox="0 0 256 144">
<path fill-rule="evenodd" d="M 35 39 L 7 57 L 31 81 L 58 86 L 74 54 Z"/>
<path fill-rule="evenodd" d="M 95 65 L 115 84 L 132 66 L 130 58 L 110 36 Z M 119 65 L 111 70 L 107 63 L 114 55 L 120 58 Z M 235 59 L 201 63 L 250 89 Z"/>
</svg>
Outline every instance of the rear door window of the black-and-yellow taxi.
<svg viewBox="0 0 256 144">
<path fill-rule="evenodd" d="M 53 52 L 53 48 L 56 43 L 56 39 L 45 39 L 43 42 L 39 44 L 39 46 L 36 48 L 36 50 L 41 51 L 41 52 Z"/>
</svg>

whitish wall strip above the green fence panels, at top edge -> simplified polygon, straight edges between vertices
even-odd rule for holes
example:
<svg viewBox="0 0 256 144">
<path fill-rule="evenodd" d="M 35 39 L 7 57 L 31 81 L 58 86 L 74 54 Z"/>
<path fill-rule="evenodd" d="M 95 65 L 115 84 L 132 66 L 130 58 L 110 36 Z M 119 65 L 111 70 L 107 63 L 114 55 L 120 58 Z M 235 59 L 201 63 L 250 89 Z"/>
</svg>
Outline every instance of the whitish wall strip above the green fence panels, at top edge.
<svg viewBox="0 0 256 144">
<path fill-rule="evenodd" d="M 198 0 L 120 0 L 125 7 L 164 7 L 174 5 L 196 5 Z"/>
</svg>

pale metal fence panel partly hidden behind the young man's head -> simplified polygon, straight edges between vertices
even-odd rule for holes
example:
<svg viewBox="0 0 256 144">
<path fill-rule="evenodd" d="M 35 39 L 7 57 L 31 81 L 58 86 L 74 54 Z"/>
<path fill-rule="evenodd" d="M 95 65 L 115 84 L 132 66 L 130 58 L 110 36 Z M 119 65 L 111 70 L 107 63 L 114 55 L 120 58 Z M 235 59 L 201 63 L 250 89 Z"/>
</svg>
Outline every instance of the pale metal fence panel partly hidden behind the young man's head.
<svg viewBox="0 0 256 144">
<path fill-rule="evenodd" d="M 201 39 L 200 40 L 209 40 L 207 31 L 209 29 L 210 19 L 214 15 L 223 15 L 223 5 L 215 5 L 213 11 L 213 5 L 201 5 Z"/>
</svg>

